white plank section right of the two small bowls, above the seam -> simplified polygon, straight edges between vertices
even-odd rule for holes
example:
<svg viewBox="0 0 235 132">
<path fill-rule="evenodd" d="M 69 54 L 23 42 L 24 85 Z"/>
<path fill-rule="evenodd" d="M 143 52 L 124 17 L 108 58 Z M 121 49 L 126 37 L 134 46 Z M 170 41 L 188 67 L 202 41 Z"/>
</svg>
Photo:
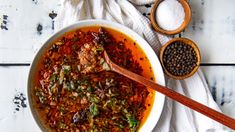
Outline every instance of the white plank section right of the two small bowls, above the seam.
<svg viewBox="0 0 235 132">
<path fill-rule="evenodd" d="M 183 37 L 194 40 L 203 63 L 235 62 L 235 1 L 189 0 L 192 20 Z"/>
</svg>

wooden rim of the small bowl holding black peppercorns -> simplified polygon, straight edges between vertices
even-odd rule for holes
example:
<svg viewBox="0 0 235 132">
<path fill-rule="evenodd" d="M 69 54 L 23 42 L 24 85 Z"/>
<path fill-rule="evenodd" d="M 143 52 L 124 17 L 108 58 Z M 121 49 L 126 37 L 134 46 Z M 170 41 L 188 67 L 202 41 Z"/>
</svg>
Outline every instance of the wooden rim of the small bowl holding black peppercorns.
<svg viewBox="0 0 235 132">
<path fill-rule="evenodd" d="M 186 74 L 186 75 L 183 75 L 183 76 L 176 76 L 176 75 L 171 74 L 166 69 L 166 67 L 163 63 L 163 54 L 164 54 L 164 51 L 165 51 L 166 47 L 168 47 L 169 45 L 171 45 L 173 42 L 176 42 L 176 41 L 181 41 L 184 44 L 191 46 L 194 49 L 194 51 L 196 52 L 196 55 L 197 55 L 197 58 L 198 58 L 196 67 L 189 74 Z M 173 78 L 173 79 L 177 79 L 177 80 L 186 79 L 186 78 L 191 77 L 192 75 L 194 75 L 194 73 L 198 70 L 198 68 L 200 66 L 200 62 L 201 62 L 201 54 L 200 54 L 200 50 L 199 50 L 198 46 L 196 45 L 196 43 L 194 43 L 192 40 L 190 40 L 188 38 L 173 38 L 173 39 L 171 39 L 170 41 L 168 41 L 166 44 L 164 44 L 162 46 L 162 48 L 160 49 L 160 55 L 159 56 L 160 56 L 160 61 L 162 63 L 162 67 L 163 67 L 164 72 L 166 73 L 166 75 Z"/>
</svg>

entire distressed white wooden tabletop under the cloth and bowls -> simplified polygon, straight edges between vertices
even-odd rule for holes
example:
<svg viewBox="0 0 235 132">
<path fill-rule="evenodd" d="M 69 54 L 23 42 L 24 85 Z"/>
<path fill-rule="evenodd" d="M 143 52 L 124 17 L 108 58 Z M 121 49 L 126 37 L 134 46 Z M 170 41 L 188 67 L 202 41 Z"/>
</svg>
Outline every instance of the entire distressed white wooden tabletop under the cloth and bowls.
<svg viewBox="0 0 235 132">
<path fill-rule="evenodd" d="M 235 0 L 189 3 L 193 18 L 178 36 L 198 44 L 201 68 L 214 100 L 225 114 L 235 118 Z M 21 93 L 26 97 L 30 63 L 57 30 L 61 4 L 58 0 L 0 0 L 0 131 L 40 131 L 27 99 L 14 98 Z M 151 5 L 137 8 L 149 16 Z"/>
</svg>

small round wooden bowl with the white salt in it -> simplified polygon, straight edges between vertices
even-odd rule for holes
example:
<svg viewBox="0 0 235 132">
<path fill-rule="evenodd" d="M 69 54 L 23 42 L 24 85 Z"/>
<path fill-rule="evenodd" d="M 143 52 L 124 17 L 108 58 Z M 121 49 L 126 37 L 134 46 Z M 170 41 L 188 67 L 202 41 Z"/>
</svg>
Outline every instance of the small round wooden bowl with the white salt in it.
<svg viewBox="0 0 235 132">
<path fill-rule="evenodd" d="M 189 24 L 191 9 L 186 0 L 156 0 L 150 19 L 157 32 L 174 35 Z"/>
</svg>

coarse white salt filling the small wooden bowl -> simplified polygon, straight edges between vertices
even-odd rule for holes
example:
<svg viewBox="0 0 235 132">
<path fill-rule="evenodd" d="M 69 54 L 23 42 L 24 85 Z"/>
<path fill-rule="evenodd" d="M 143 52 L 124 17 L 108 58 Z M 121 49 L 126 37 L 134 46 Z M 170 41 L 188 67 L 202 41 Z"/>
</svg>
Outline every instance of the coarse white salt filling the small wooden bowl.
<svg viewBox="0 0 235 132">
<path fill-rule="evenodd" d="M 164 0 L 156 10 L 156 21 L 164 30 L 176 30 L 184 22 L 184 8 L 178 0 Z"/>
</svg>

